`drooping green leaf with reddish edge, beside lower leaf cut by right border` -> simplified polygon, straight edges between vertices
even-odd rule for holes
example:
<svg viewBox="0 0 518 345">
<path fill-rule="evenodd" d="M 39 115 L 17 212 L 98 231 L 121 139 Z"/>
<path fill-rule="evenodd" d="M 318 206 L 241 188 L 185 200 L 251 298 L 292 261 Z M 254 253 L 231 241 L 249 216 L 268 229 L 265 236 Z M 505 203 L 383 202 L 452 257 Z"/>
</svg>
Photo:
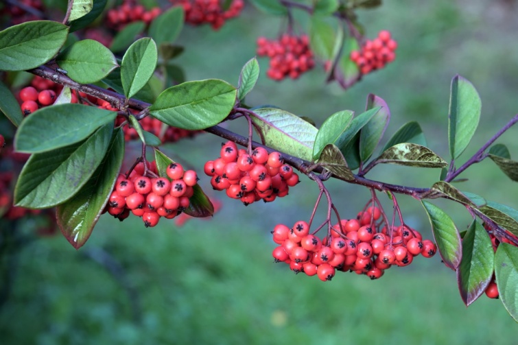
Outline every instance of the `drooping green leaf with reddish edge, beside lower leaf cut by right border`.
<svg viewBox="0 0 518 345">
<path fill-rule="evenodd" d="M 473 220 L 462 237 L 462 261 L 457 268 L 460 297 L 466 306 L 471 305 L 493 278 L 495 252 L 484 226 Z"/>
</svg>

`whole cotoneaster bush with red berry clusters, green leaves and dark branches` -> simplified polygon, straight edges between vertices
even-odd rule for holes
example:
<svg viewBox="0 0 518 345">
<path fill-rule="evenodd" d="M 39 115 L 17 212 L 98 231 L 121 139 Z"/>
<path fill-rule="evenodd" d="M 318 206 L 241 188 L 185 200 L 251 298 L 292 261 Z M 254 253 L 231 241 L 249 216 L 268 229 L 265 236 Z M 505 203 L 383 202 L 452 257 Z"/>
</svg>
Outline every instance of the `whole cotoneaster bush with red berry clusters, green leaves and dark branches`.
<svg viewBox="0 0 518 345">
<path fill-rule="evenodd" d="M 16 228 L 23 217 L 40 217 L 45 219 L 38 222 L 41 233 L 57 226 L 80 248 L 104 214 L 125 222 L 141 218 L 145 227 L 162 218 L 209 217 L 215 206 L 203 188 L 224 191 L 248 206 L 290 200 L 290 188 L 309 178 L 319 189 L 314 211 L 309 219 L 285 219 L 274 227 L 275 262 L 322 281 L 331 281 L 337 272 L 377 279 L 390 267 L 439 252 L 456 271 L 466 305 L 485 292 L 500 298 L 518 320 L 518 211 L 454 184 L 464 170 L 486 158 L 518 180 L 518 163 L 505 145 L 495 143 L 518 115 L 458 165 L 478 126 L 481 100 L 473 84 L 456 75 L 444 139 L 449 161 L 427 147 L 416 122 L 406 123 L 379 148 L 391 115 L 377 95 L 367 96 L 361 114 L 336 112 L 316 128 L 276 106 L 246 102 L 260 75 L 256 58 L 245 64 L 235 85 L 185 80 L 174 60 L 183 51 L 174 42 L 184 23 L 219 29 L 239 20 L 244 1 L 172 0 L 166 5 L 124 0 L 111 8 L 106 2 L 71 0 L 56 9 L 20 0 L 1 8 L 0 110 L 15 128 L 14 136 L 7 130 L 0 134 L 2 226 Z M 390 31 L 369 40 L 355 16 L 357 8 L 376 7 L 377 1 L 249 4 L 287 19 L 278 37 L 257 35 L 257 55 L 270 58 L 265 74 L 273 80 L 297 79 L 320 67 L 327 82 L 346 90 L 395 60 L 397 41 Z M 309 16 L 309 28 L 296 23 L 295 11 Z M 248 124 L 244 134 L 220 126 L 239 118 Z M 261 142 L 252 141 L 254 131 Z M 197 171 L 161 152 L 163 143 L 186 137 L 196 141 L 202 133 L 223 139 L 217 150 L 207 147 L 216 156 L 207 157 L 204 165 L 207 185 L 198 184 Z M 141 150 L 126 151 L 129 141 L 139 141 Z M 154 153 L 151 160 L 148 148 Z M 123 165 L 125 159 L 132 164 Z M 384 164 L 438 169 L 439 178 L 408 187 L 368 177 Z M 368 202 L 356 216 L 340 216 L 331 195 L 340 191 L 327 189 L 330 178 L 366 187 Z M 400 194 L 421 202 L 433 240 L 405 223 Z M 391 200 L 391 211 L 383 208 L 379 195 Z M 429 201 L 437 198 L 462 204 L 473 219 L 469 228 L 458 230 L 447 212 Z M 325 221 L 314 224 L 322 199 Z"/>
</svg>

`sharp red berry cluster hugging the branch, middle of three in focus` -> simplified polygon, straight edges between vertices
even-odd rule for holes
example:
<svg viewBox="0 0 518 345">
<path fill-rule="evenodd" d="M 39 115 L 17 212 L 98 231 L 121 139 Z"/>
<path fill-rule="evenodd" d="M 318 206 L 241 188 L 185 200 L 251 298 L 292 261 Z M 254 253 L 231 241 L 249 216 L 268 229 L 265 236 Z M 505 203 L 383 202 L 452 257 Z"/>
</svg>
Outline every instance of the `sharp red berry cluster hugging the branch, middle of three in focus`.
<svg viewBox="0 0 518 345">
<path fill-rule="evenodd" d="M 283 164 L 279 152 L 257 147 L 252 154 L 237 150 L 235 143 L 222 145 L 220 158 L 205 163 L 205 174 L 217 191 L 226 190 L 229 198 L 241 200 L 245 206 L 259 200 L 272 202 L 287 195 L 298 183 L 298 175 L 290 165 Z"/>
</svg>

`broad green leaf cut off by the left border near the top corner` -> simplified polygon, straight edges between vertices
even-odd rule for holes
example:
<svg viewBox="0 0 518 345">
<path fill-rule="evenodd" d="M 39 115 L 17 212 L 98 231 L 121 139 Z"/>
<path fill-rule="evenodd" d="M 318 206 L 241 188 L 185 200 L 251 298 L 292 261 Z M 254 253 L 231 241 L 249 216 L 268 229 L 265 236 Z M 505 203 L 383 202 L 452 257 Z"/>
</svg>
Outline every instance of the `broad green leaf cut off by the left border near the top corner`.
<svg viewBox="0 0 518 345">
<path fill-rule="evenodd" d="M 34 69 L 54 58 L 69 27 L 56 21 L 27 21 L 0 31 L 0 70 Z"/>
</svg>

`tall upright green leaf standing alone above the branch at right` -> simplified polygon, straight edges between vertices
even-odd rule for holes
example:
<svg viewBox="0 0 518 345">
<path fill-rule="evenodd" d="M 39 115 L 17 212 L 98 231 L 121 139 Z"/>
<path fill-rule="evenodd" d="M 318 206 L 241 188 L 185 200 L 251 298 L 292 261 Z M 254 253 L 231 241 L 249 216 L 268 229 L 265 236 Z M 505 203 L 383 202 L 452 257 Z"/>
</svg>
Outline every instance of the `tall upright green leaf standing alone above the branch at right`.
<svg viewBox="0 0 518 345">
<path fill-rule="evenodd" d="M 451 80 L 449 96 L 449 152 L 456 159 L 469 144 L 480 120 L 482 102 L 475 87 L 456 75 Z"/>
</svg>

